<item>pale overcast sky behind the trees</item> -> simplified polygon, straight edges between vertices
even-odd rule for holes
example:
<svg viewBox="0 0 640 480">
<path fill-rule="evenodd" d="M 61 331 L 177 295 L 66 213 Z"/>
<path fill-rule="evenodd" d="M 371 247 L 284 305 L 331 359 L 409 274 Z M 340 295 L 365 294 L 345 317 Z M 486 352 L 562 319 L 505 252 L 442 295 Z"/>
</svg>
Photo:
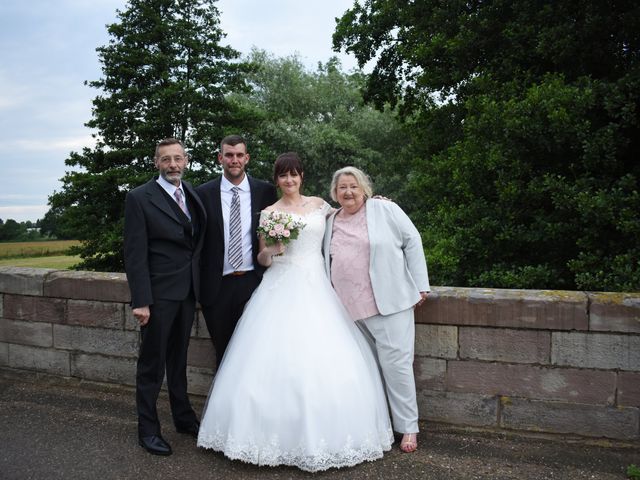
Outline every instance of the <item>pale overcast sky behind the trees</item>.
<svg viewBox="0 0 640 480">
<path fill-rule="evenodd" d="M 226 43 L 283 57 L 298 53 L 310 69 L 336 55 L 335 18 L 354 0 L 219 0 Z M 5 181 L 0 218 L 35 221 L 59 190 L 71 151 L 92 146 L 95 89 L 101 76 L 95 49 L 108 43 L 106 25 L 125 0 L 29 0 L 0 3 L 0 159 Z M 355 59 L 338 55 L 345 70 Z"/>
</svg>

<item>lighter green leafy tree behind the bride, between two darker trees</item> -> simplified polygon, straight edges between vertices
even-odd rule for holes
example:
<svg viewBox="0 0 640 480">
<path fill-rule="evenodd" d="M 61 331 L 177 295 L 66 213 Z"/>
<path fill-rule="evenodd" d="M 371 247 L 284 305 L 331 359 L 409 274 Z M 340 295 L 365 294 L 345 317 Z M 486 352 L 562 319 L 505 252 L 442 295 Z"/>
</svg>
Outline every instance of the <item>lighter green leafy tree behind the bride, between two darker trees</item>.
<svg viewBox="0 0 640 480">
<path fill-rule="evenodd" d="M 364 103 L 365 75 L 345 73 L 335 58 L 309 71 L 297 56 L 274 58 L 254 50 L 252 90 L 230 101 L 244 112 L 252 155 L 251 173 L 272 177 L 276 156 L 297 151 L 304 162 L 304 191 L 329 199 L 335 170 L 355 165 L 367 172 L 377 190 L 399 199 L 406 182 L 391 158 L 404 148 L 402 126 L 391 109 Z"/>
</svg>

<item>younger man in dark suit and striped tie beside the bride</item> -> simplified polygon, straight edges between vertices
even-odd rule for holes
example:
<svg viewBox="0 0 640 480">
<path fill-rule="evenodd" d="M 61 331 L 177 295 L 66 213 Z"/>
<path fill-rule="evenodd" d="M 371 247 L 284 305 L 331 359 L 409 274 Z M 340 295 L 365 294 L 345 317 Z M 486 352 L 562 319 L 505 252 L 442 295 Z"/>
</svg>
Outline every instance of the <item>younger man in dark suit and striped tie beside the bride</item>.
<svg viewBox="0 0 640 480">
<path fill-rule="evenodd" d="M 258 263 L 260 211 L 278 199 L 270 183 L 245 172 L 247 142 L 229 135 L 220 142 L 223 175 L 196 188 L 209 218 L 201 260 L 200 304 L 218 365 L 245 303 L 262 280 Z"/>
</svg>

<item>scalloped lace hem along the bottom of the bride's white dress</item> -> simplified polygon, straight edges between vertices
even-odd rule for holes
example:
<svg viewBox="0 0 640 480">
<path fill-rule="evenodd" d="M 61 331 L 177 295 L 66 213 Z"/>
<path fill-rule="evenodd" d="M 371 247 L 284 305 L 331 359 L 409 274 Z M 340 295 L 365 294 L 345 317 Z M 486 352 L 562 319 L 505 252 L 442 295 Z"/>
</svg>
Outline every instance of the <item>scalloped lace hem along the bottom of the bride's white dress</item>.
<svg viewBox="0 0 640 480">
<path fill-rule="evenodd" d="M 329 468 L 352 467 L 365 461 L 382 458 L 385 451 L 391 449 L 393 431 L 379 432 L 370 435 L 360 445 L 354 446 L 353 438 L 349 435 L 339 451 L 329 450 L 327 443 L 319 439 L 316 447 L 300 443 L 295 449 L 282 450 L 277 435 L 268 442 L 240 442 L 230 435 L 216 432 L 200 436 L 198 446 L 222 451 L 231 460 L 241 460 L 254 465 L 288 465 L 298 467 L 307 472 L 319 472 Z"/>
</svg>

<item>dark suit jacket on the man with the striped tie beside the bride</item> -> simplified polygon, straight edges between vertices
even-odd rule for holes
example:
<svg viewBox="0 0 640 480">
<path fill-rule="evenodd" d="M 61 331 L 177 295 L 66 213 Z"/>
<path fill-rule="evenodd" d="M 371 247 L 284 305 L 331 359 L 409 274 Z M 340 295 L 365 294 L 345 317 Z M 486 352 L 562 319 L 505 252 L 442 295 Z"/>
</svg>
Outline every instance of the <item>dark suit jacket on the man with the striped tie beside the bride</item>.
<svg viewBox="0 0 640 480">
<path fill-rule="evenodd" d="M 273 185 L 247 175 L 251 188 L 251 232 L 253 233 L 253 265 L 258 278 L 264 267 L 258 263 L 258 221 L 260 212 L 278 200 Z M 200 303 L 211 306 L 220 292 L 222 268 L 224 264 L 224 225 L 222 203 L 220 201 L 220 178 L 204 183 L 196 188 L 207 211 L 208 221 L 204 235 L 201 257 Z"/>
</svg>

